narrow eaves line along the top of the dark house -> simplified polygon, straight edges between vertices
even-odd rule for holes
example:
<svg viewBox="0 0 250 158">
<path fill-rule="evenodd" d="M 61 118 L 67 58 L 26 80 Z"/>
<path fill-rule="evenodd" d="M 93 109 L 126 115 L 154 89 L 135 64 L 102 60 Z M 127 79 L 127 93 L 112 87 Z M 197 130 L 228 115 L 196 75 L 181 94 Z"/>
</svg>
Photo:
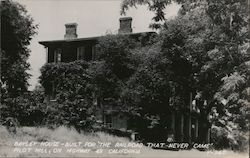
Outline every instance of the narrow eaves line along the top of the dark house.
<svg viewBox="0 0 250 158">
<path fill-rule="evenodd" d="M 155 34 L 157 34 L 154 31 L 148 31 L 148 32 L 125 33 L 125 34 L 116 34 L 116 35 L 139 35 L 139 34 L 144 34 L 144 33 L 155 33 Z M 47 45 L 52 44 L 52 43 L 80 42 L 80 41 L 97 41 L 99 38 L 104 37 L 104 36 L 75 38 L 75 39 L 63 39 L 63 40 L 39 41 L 38 43 L 41 44 L 41 45 L 47 46 Z"/>
</svg>

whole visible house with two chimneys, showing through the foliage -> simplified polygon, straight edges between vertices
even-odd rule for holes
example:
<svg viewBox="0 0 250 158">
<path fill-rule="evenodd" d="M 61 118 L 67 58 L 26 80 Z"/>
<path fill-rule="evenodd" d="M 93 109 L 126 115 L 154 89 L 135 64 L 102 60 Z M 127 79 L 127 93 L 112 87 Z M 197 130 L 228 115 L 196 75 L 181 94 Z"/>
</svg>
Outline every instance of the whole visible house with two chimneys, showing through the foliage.
<svg viewBox="0 0 250 158">
<path fill-rule="evenodd" d="M 95 60 L 98 52 L 96 45 L 101 37 L 77 38 L 77 24 L 69 23 L 65 25 L 65 35 L 63 40 L 49 40 L 39 42 L 46 49 L 47 63 L 73 62 L 76 60 L 92 61 Z M 133 39 L 147 42 L 151 36 L 156 35 L 155 32 L 132 32 L 132 18 L 120 18 L 120 28 L 118 34 L 127 34 Z M 53 82 L 53 81 L 52 81 Z M 55 91 L 52 87 L 46 92 L 48 101 L 55 101 Z M 200 112 L 195 103 L 193 103 L 193 94 L 188 94 L 187 105 L 180 109 L 170 109 L 168 113 L 167 124 L 169 125 L 166 137 L 172 138 L 173 141 L 194 142 L 199 137 L 204 137 L 205 142 L 209 142 L 209 132 L 204 133 L 204 128 L 208 128 L 208 124 L 202 121 Z M 114 114 L 114 111 L 115 114 Z M 106 128 L 128 131 L 128 118 L 119 113 L 118 109 L 110 108 L 103 104 L 96 111 L 96 116 Z M 205 127 L 206 126 L 206 127 Z"/>
</svg>

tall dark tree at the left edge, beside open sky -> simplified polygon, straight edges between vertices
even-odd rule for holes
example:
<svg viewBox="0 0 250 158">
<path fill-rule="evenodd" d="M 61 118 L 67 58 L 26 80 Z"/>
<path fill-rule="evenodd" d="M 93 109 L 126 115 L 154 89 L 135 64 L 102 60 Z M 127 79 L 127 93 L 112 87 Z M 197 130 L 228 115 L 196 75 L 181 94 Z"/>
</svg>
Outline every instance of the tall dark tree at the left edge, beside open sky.
<svg viewBox="0 0 250 158">
<path fill-rule="evenodd" d="M 30 74 L 27 59 L 37 25 L 21 4 L 1 1 L 1 91 L 8 94 L 26 91 Z"/>
</svg>

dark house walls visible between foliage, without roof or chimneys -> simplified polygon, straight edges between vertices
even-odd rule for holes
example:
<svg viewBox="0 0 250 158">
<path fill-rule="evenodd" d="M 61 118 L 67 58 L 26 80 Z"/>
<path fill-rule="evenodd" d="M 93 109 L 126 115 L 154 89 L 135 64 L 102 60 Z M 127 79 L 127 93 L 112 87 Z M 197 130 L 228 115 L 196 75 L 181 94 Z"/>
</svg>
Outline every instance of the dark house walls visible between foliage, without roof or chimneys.
<svg viewBox="0 0 250 158">
<path fill-rule="evenodd" d="M 150 34 L 134 34 L 133 38 L 140 40 L 142 44 L 147 44 L 150 39 Z M 95 51 L 93 47 L 96 45 L 97 40 L 90 41 L 75 41 L 75 42 L 64 42 L 64 43 L 55 43 L 50 44 L 48 47 L 48 63 L 54 62 L 54 52 L 56 49 L 62 49 L 61 62 L 72 62 L 77 60 L 77 48 L 84 46 L 86 52 L 91 52 L 93 57 L 95 56 Z M 94 58 L 92 58 L 94 59 Z M 47 94 L 51 95 L 51 89 L 47 90 Z M 49 96 L 50 97 L 50 96 Z M 48 98 L 49 98 L 48 97 Z M 168 114 L 168 129 L 166 137 L 172 137 L 173 141 L 176 142 L 207 142 L 209 141 L 209 124 L 203 118 L 200 118 L 200 115 L 195 112 L 195 108 L 192 107 L 192 96 L 187 94 L 184 97 L 185 105 L 178 110 L 172 109 Z M 50 98 L 49 98 L 50 99 Z M 199 104 L 197 102 L 197 104 Z M 115 113 L 113 113 L 115 112 Z M 108 121 L 107 115 L 110 115 L 111 122 Z M 104 127 L 110 127 L 113 129 L 119 129 L 122 131 L 128 130 L 129 123 L 128 118 L 119 113 L 119 109 L 115 109 L 112 106 L 99 106 L 96 111 L 96 117 L 100 120 L 100 123 Z M 206 140 L 204 140 L 206 138 Z"/>
</svg>

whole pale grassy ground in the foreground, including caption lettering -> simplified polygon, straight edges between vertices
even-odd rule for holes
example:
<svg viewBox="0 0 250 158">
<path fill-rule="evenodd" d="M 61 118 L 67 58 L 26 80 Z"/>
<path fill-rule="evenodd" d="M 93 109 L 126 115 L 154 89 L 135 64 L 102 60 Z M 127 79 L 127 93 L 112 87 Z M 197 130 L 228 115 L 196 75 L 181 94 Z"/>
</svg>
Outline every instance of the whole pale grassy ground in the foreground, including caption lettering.
<svg viewBox="0 0 250 158">
<path fill-rule="evenodd" d="M 12 134 L 0 126 L 0 157 L 247 158 L 248 153 L 154 150 L 103 132 L 78 133 L 66 127 L 54 130 L 20 127 Z"/>
</svg>

